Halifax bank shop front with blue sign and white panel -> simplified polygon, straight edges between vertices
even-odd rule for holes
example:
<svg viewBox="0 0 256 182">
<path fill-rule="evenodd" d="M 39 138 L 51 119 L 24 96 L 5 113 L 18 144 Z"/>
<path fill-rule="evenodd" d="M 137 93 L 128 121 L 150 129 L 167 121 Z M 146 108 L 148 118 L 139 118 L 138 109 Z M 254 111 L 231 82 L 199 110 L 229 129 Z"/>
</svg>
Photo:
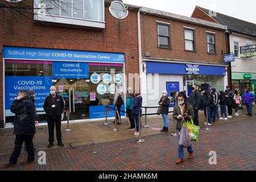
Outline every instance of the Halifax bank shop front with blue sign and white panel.
<svg viewBox="0 0 256 182">
<path fill-rule="evenodd" d="M 228 83 L 226 67 L 203 64 L 177 64 L 147 61 L 147 105 L 157 106 L 162 91 L 174 100 L 175 92 L 185 92 L 189 97 L 193 84 L 198 88 L 224 90 Z M 152 91 L 154 90 L 154 92 Z"/>
</svg>

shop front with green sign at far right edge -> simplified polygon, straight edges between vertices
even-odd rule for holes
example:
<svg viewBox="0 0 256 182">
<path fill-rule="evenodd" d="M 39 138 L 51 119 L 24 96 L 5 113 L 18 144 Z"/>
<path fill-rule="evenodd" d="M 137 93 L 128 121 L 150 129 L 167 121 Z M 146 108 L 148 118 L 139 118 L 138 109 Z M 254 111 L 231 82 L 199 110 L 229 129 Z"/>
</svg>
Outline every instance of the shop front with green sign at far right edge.
<svg viewBox="0 0 256 182">
<path fill-rule="evenodd" d="M 246 88 L 252 92 L 256 88 L 256 73 L 232 72 L 232 89 L 244 93 Z"/>
</svg>

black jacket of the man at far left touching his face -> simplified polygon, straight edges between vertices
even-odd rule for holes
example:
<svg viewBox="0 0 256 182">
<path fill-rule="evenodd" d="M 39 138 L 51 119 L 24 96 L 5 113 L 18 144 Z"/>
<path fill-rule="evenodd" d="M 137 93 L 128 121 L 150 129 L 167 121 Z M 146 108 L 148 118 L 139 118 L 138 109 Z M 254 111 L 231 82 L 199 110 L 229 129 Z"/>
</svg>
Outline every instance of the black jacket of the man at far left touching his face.
<svg viewBox="0 0 256 182">
<path fill-rule="evenodd" d="M 14 134 L 34 135 L 35 134 L 35 105 L 30 96 L 14 100 L 10 108 L 15 114 Z"/>
</svg>

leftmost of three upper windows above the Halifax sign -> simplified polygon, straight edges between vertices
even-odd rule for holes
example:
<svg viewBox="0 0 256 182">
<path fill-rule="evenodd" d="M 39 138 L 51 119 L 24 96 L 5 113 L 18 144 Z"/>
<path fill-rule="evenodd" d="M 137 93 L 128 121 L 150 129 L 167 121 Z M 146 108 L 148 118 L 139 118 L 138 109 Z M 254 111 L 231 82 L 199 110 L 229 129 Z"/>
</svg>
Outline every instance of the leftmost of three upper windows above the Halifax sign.
<svg viewBox="0 0 256 182">
<path fill-rule="evenodd" d="M 170 48 L 170 26 L 158 23 L 158 47 Z"/>
</svg>

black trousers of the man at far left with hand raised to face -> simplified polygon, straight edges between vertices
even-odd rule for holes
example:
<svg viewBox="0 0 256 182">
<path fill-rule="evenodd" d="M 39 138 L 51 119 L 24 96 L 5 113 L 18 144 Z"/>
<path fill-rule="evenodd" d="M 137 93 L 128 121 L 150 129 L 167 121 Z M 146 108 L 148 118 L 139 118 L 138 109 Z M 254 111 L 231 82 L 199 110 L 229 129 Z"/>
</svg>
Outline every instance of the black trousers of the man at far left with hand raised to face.
<svg viewBox="0 0 256 182">
<path fill-rule="evenodd" d="M 25 145 L 27 147 L 27 160 L 34 161 L 35 160 L 35 153 L 34 153 L 34 146 L 33 146 L 33 140 L 32 135 L 16 135 L 15 138 L 15 147 L 14 151 L 10 156 L 9 162 L 11 164 L 16 164 L 20 155 L 20 151 L 22 150 L 22 144 L 25 142 Z"/>
</svg>

